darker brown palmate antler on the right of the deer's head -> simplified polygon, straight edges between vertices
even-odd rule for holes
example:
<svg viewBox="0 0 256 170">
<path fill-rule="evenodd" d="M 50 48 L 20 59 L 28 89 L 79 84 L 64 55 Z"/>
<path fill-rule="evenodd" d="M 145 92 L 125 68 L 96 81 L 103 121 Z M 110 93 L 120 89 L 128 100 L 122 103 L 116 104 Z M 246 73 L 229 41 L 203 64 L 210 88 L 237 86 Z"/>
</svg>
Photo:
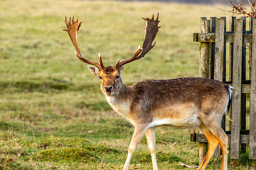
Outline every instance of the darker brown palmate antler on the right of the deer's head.
<svg viewBox="0 0 256 170">
<path fill-rule="evenodd" d="M 136 50 L 135 54 L 132 56 L 132 58 L 123 60 L 120 62 L 120 60 L 116 63 L 116 65 L 114 66 L 115 68 L 119 68 L 121 66 L 123 66 L 126 63 L 132 62 L 134 60 L 138 60 L 142 57 L 145 56 L 145 54 L 147 54 L 147 52 L 149 50 L 151 50 L 151 48 L 153 48 L 156 44 L 156 42 L 152 45 L 153 41 L 155 40 L 156 37 L 156 33 L 159 31 L 158 29 L 161 27 L 158 27 L 158 23 L 160 21 L 158 21 L 158 16 L 159 16 L 159 12 L 157 12 L 157 17 L 156 20 L 154 20 L 154 13 L 152 12 L 152 18 L 143 18 L 146 21 L 146 27 L 144 28 L 145 30 L 145 38 L 142 44 L 142 48 L 140 48 L 140 45 L 138 47 L 138 49 Z"/>
</svg>

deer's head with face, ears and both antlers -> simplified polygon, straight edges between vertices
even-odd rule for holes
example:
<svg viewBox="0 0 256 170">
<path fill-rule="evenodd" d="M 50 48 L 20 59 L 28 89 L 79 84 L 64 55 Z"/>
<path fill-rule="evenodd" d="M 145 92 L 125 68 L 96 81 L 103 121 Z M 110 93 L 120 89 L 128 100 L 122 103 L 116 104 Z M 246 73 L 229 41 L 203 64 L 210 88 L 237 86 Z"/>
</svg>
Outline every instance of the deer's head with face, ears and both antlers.
<svg viewBox="0 0 256 170">
<path fill-rule="evenodd" d="M 95 75 L 99 76 L 100 82 L 101 82 L 101 91 L 105 96 L 112 96 L 118 94 L 121 86 L 123 85 L 122 79 L 121 79 L 121 73 L 124 69 L 124 64 L 132 62 L 134 60 L 140 59 L 145 56 L 145 54 L 155 46 L 155 43 L 152 45 L 156 33 L 158 32 L 158 15 L 156 20 L 154 20 L 154 14 L 152 14 L 152 18 L 144 18 L 146 21 L 146 27 L 144 28 L 145 30 L 145 38 L 142 44 L 142 48 L 140 48 L 140 45 L 134 55 L 126 60 L 123 60 L 120 62 L 120 60 L 115 64 L 115 66 L 109 66 L 105 67 L 103 66 L 102 59 L 99 53 L 99 60 L 100 62 L 96 61 L 91 61 L 88 59 L 85 59 L 82 57 L 79 47 L 78 47 L 78 42 L 77 42 L 77 32 L 79 30 L 79 27 L 81 26 L 81 22 L 78 22 L 78 20 L 74 21 L 74 15 L 72 16 L 72 23 L 71 19 L 69 17 L 69 21 L 67 22 L 67 18 L 65 16 L 64 21 L 67 25 L 67 29 L 63 29 L 63 31 L 67 31 L 69 34 L 69 37 L 75 47 L 75 54 L 81 60 L 82 62 L 92 64 L 94 66 L 88 66 L 88 69 L 90 72 Z"/>
</svg>

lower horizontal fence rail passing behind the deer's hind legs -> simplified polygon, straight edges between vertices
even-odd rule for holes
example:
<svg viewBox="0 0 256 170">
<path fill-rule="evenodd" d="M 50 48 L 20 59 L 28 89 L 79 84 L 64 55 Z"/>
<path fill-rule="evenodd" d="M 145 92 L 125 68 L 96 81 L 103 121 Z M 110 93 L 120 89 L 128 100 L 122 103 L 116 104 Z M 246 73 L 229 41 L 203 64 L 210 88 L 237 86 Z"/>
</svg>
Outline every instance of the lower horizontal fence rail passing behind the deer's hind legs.
<svg viewBox="0 0 256 170">
<path fill-rule="evenodd" d="M 231 135 L 227 134 L 227 136 L 228 136 L 228 143 L 230 143 Z M 240 141 L 240 143 L 248 144 L 249 143 L 249 135 L 240 135 L 240 140 L 239 141 Z M 194 138 L 193 134 L 190 134 L 190 142 L 207 143 L 208 140 L 207 140 L 207 138 L 205 137 L 204 134 L 196 133 L 195 134 L 195 138 Z"/>
</svg>

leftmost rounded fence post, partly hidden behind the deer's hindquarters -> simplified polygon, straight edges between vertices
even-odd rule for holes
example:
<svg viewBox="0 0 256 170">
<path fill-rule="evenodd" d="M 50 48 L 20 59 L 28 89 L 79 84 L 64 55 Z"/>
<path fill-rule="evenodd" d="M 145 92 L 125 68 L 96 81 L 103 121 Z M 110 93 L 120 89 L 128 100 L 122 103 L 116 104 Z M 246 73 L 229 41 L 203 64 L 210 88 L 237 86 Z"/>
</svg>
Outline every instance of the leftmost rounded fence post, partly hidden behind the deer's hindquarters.
<svg viewBox="0 0 256 170">
<path fill-rule="evenodd" d="M 200 18 L 200 33 L 209 33 L 210 32 L 210 20 L 206 20 L 206 18 Z M 200 51 L 199 51 L 199 77 L 207 77 L 209 78 L 209 47 L 210 43 L 200 43 Z M 199 133 L 202 132 L 199 130 Z M 199 142 L 198 143 L 198 157 L 199 164 L 204 159 L 208 151 L 208 143 Z"/>
</svg>

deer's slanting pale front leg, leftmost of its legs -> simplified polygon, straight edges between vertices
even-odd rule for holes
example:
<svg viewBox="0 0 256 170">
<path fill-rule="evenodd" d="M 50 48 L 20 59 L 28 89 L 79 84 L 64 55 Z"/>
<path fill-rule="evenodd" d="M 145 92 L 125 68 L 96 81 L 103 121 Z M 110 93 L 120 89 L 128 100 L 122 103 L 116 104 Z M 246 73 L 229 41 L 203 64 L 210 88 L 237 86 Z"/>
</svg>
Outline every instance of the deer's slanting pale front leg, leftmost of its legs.
<svg viewBox="0 0 256 170">
<path fill-rule="evenodd" d="M 135 126 L 134 132 L 133 132 L 133 136 L 132 136 L 132 140 L 128 149 L 128 155 L 127 155 L 127 159 L 125 161 L 123 170 L 128 170 L 131 158 L 132 158 L 132 154 L 135 151 L 135 149 L 137 148 L 137 146 L 140 144 L 141 139 L 146 131 L 146 127 L 147 126 Z"/>
</svg>

